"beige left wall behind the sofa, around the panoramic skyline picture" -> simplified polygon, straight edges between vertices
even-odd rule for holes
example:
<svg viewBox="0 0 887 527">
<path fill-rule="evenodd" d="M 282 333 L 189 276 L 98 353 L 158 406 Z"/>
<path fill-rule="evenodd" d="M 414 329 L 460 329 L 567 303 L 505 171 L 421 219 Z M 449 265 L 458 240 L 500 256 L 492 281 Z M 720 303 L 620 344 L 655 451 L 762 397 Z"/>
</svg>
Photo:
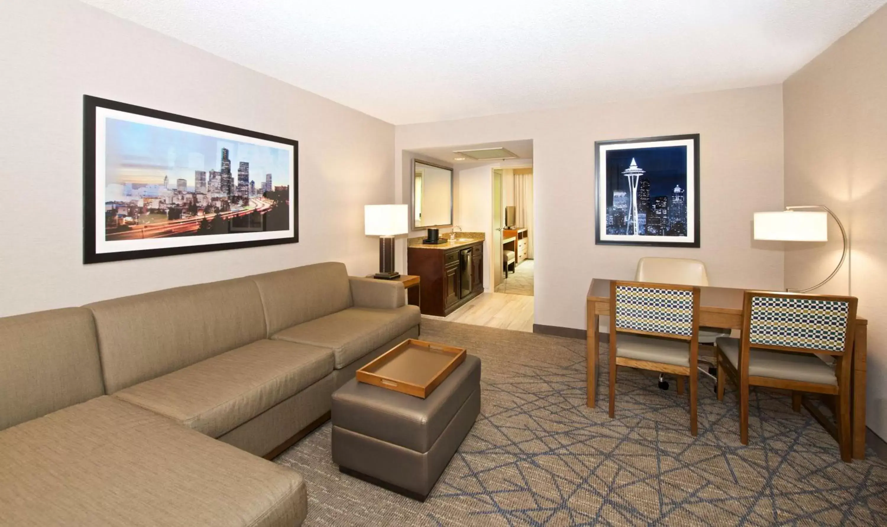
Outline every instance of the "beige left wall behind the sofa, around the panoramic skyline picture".
<svg viewBox="0 0 887 527">
<path fill-rule="evenodd" d="M 340 260 L 393 198 L 394 127 L 73 0 L 0 3 L 0 315 Z M 299 141 L 300 243 L 82 265 L 82 96 Z"/>
</svg>

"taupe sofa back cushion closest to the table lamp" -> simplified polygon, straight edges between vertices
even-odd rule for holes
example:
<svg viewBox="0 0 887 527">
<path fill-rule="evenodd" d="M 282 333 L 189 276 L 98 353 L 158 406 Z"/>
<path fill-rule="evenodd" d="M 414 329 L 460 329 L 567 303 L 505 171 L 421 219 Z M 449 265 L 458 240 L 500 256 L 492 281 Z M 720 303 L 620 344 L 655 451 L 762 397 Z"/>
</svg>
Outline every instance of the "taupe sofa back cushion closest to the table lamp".
<svg viewBox="0 0 887 527">
<path fill-rule="evenodd" d="M 318 263 L 250 278 L 262 294 L 267 335 L 352 306 L 343 263 Z"/>
</svg>

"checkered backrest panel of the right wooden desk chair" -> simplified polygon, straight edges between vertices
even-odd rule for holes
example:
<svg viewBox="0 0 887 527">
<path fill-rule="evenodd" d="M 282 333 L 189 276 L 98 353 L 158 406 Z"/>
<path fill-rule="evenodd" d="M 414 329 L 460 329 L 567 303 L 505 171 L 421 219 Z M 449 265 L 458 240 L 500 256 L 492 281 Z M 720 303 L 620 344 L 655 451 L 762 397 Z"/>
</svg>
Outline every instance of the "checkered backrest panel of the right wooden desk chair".
<svg viewBox="0 0 887 527">
<path fill-rule="evenodd" d="M 749 341 L 843 352 L 850 306 L 837 300 L 752 297 Z"/>
</svg>

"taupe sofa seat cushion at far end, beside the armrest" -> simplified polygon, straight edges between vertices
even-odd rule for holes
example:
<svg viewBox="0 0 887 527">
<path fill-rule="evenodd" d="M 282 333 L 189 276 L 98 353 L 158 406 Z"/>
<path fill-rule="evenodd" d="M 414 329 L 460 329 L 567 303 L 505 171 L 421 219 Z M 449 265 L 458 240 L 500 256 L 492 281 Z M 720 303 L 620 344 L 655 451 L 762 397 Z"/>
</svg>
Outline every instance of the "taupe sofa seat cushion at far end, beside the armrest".
<svg viewBox="0 0 887 527">
<path fill-rule="evenodd" d="M 284 329 L 271 338 L 330 348 L 335 355 L 335 368 L 338 369 L 348 366 L 407 329 L 418 326 L 419 322 L 419 307 L 416 306 L 396 309 L 350 307 Z"/>
</svg>

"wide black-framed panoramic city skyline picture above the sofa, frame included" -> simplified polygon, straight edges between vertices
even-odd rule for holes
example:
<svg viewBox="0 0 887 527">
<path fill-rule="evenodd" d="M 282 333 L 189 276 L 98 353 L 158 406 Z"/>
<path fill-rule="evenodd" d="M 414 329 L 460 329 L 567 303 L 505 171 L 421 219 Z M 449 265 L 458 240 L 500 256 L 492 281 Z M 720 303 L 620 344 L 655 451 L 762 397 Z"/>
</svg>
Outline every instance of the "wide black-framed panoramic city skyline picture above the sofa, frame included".
<svg viewBox="0 0 887 527">
<path fill-rule="evenodd" d="M 299 143 L 83 97 L 83 263 L 299 240 Z"/>
</svg>

